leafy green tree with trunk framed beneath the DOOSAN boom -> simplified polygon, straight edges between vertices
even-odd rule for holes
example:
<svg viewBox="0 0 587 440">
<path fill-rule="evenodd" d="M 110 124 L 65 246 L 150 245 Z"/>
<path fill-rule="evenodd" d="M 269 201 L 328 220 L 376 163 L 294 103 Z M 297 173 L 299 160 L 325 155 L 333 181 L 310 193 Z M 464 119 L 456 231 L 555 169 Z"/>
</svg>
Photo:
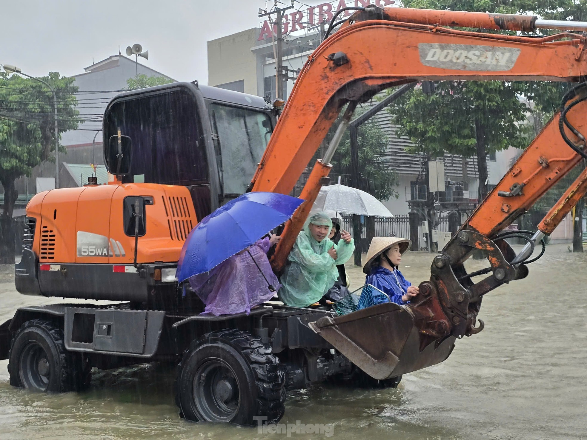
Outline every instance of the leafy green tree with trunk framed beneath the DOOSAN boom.
<svg viewBox="0 0 587 440">
<path fill-rule="evenodd" d="M 430 160 L 445 153 L 477 157 L 479 198 L 487 195 L 487 158 L 492 151 L 523 148 L 521 123 L 527 107 L 519 100 L 523 83 L 445 81 L 433 94 L 415 87 L 390 106 L 398 134 L 413 141 L 410 153 Z"/>
</svg>

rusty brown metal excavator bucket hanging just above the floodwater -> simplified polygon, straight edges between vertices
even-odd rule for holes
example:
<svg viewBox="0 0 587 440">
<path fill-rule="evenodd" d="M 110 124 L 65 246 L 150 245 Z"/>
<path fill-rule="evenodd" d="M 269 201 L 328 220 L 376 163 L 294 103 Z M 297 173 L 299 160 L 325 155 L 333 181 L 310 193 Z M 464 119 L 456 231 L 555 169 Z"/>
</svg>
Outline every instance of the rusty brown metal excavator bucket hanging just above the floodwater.
<svg viewBox="0 0 587 440">
<path fill-rule="evenodd" d="M 450 355 L 454 336 L 423 344 L 409 307 L 383 303 L 309 323 L 313 331 L 371 377 L 383 380 L 438 364 Z"/>
</svg>

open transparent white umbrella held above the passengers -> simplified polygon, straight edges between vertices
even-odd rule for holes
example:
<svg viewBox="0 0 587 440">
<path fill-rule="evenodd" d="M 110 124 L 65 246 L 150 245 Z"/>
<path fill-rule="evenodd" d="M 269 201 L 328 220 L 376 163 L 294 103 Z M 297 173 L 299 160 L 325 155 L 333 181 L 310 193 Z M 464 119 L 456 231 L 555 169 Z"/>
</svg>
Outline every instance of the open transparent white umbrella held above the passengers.
<svg viewBox="0 0 587 440">
<path fill-rule="evenodd" d="M 375 217 L 393 217 L 382 202 L 368 192 L 340 184 L 322 187 L 312 211 L 336 211 L 341 214 L 358 214 Z"/>
</svg>

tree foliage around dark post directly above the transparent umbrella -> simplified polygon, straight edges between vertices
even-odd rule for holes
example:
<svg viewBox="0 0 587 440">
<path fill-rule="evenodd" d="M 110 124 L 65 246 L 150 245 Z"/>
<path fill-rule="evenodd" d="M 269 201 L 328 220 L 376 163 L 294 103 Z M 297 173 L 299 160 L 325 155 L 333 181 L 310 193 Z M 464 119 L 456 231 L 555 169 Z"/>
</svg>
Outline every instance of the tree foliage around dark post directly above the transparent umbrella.
<svg viewBox="0 0 587 440">
<path fill-rule="evenodd" d="M 355 111 L 353 118 L 362 114 Z M 332 125 L 331 134 L 338 127 L 340 120 Z M 327 139 L 331 137 L 328 136 Z M 387 151 L 389 138 L 373 120 L 359 126 L 357 129 L 357 143 L 359 145 L 359 189 L 367 191 L 379 200 L 397 198 L 397 174 L 384 163 L 382 156 Z M 351 175 L 350 137 L 347 130 L 340 141 L 333 160 L 332 174 Z"/>
</svg>

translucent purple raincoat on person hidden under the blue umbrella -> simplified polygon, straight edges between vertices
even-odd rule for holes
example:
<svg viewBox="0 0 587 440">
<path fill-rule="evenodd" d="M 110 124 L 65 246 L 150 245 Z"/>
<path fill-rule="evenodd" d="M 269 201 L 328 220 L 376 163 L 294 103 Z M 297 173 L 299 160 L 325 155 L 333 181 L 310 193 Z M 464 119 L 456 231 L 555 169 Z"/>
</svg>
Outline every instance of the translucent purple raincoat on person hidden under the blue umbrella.
<svg viewBox="0 0 587 440">
<path fill-rule="evenodd" d="M 275 289 L 281 285 L 271 270 L 266 252 L 271 247 L 269 238 L 257 241 L 247 249 Z M 259 272 L 247 249 L 224 260 L 207 273 L 189 278 L 191 288 L 206 304 L 204 313 L 216 316 L 247 312 L 271 299 L 275 292 L 269 290 L 265 278 Z"/>
</svg>

